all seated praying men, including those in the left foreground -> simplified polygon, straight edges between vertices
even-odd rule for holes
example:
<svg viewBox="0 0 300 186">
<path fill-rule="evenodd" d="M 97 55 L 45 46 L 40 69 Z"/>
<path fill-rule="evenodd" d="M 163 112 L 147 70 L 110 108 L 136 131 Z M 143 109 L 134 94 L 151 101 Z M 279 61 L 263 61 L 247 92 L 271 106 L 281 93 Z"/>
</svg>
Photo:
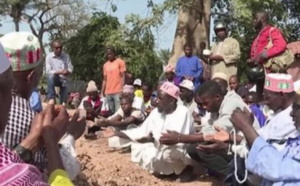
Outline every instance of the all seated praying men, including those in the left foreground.
<svg viewBox="0 0 300 186">
<path fill-rule="evenodd" d="M 38 39 L 14 32 L 0 43 L 0 183 L 72 186 L 80 172 L 74 143 L 85 119 L 79 112 L 69 118 L 53 100 L 35 114 L 29 99 L 43 72 Z M 19 51 L 28 55 L 13 57 Z M 30 57 L 32 52 L 35 57 Z M 135 94 L 138 87 L 125 85 L 120 109 L 112 115 L 91 81 L 79 108 L 102 128 L 111 147 L 130 147 L 132 161 L 158 177 L 177 175 L 187 182 L 195 177 L 194 170 L 209 169 L 235 182 L 237 154 L 249 171 L 245 184 L 299 185 L 300 91 L 295 92 L 290 75 L 267 74 L 264 105 L 273 111 L 269 115 L 255 93 L 240 91 L 237 81 L 222 73 L 196 89 L 190 80 L 178 86 L 165 81 L 157 86 L 150 110 Z"/>
</svg>

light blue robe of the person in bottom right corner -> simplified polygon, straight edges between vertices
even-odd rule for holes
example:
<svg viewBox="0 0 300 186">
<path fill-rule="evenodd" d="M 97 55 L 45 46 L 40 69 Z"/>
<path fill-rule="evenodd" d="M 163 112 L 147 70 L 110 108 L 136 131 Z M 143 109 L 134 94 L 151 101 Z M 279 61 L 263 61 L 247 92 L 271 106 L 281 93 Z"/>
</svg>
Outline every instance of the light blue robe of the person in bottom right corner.
<svg viewBox="0 0 300 186">
<path fill-rule="evenodd" d="M 261 186 L 300 186 L 300 137 L 289 138 L 281 152 L 256 138 L 246 168 L 264 178 Z"/>
</svg>

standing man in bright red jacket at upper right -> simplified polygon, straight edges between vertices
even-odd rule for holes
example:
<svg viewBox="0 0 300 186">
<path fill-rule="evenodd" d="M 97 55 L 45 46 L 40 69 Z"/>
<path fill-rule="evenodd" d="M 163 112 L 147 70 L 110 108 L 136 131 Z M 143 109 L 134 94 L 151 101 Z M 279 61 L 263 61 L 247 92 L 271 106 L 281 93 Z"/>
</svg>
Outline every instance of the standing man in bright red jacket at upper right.
<svg viewBox="0 0 300 186">
<path fill-rule="evenodd" d="M 258 32 L 254 42 L 252 43 L 250 59 L 247 60 L 250 64 L 263 65 L 268 59 L 278 56 L 285 52 L 286 41 L 280 29 L 273 27 L 269 23 L 269 14 L 266 11 L 259 11 L 255 14 L 253 20 L 254 28 Z M 270 40 L 272 46 L 267 49 Z M 266 69 L 270 73 L 270 69 Z M 259 98 L 262 98 L 262 91 L 265 80 L 256 82 L 256 92 Z"/>
</svg>

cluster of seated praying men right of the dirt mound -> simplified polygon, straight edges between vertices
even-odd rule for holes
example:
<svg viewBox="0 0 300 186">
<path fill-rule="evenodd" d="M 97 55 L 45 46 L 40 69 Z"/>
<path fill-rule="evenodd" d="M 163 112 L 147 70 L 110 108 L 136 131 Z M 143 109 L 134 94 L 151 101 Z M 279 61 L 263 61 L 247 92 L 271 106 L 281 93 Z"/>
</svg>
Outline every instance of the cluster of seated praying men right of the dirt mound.
<svg viewBox="0 0 300 186">
<path fill-rule="evenodd" d="M 181 182 L 187 182 L 195 178 L 193 170 L 208 169 L 228 178 L 234 172 L 233 154 L 245 158 L 231 148 L 236 139 L 248 153 L 246 168 L 250 175 L 269 185 L 297 181 L 291 173 L 294 167 L 280 170 L 285 163 L 297 162 L 300 133 L 295 122 L 300 95 L 294 91 L 291 76 L 267 74 L 263 104 L 255 92 L 239 86 L 238 81 L 236 76 L 216 73 L 196 90 L 190 80 L 178 86 L 164 81 L 157 86 L 149 113 L 135 106 L 138 97 L 134 87 L 126 85 L 119 111 L 108 118 L 100 117 L 96 125 L 104 129 L 109 146 L 131 147 L 131 160 L 157 176 L 178 175 Z M 265 113 L 264 107 L 273 113 Z M 249 176 L 247 182 L 252 181 Z"/>
</svg>

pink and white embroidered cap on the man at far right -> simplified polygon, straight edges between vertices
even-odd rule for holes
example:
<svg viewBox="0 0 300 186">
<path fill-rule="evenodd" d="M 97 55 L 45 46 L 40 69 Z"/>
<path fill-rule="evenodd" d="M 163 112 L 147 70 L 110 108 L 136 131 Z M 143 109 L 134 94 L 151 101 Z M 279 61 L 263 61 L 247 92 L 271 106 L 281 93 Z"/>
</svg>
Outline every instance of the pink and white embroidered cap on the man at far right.
<svg viewBox="0 0 300 186">
<path fill-rule="evenodd" d="M 294 82 L 289 74 L 269 73 L 264 88 L 272 92 L 290 93 L 294 91 Z"/>
</svg>

